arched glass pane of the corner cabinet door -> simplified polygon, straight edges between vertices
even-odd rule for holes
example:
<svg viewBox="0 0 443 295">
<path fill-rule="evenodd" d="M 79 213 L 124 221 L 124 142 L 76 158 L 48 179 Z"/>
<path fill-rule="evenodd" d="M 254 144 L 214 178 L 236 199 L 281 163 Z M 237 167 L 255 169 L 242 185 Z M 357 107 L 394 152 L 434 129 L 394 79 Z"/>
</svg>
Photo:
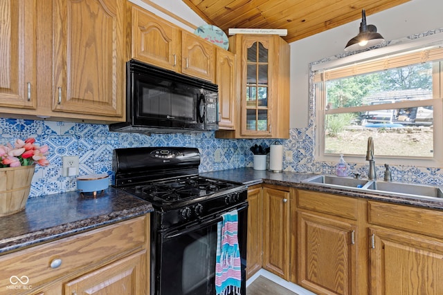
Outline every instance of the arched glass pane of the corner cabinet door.
<svg viewBox="0 0 443 295">
<path fill-rule="evenodd" d="M 269 130 L 268 49 L 256 41 L 247 48 L 246 61 L 246 130 Z"/>
</svg>

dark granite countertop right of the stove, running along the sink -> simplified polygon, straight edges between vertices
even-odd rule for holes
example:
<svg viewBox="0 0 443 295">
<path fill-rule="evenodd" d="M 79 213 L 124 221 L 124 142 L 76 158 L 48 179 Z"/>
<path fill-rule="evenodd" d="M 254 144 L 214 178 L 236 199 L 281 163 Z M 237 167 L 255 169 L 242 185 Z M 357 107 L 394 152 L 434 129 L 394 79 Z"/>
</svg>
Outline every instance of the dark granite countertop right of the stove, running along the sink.
<svg viewBox="0 0 443 295">
<path fill-rule="evenodd" d="M 406 204 L 415 207 L 443 210 L 443 199 L 440 201 L 434 198 L 430 198 L 428 200 L 418 198 L 406 198 L 404 196 L 395 196 L 393 194 L 390 195 L 388 193 L 379 193 L 376 191 L 363 189 L 338 189 L 333 187 L 324 187 L 320 184 L 309 184 L 302 182 L 302 180 L 310 178 L 315 174 L 302 174 L 287 171 L 275 173 L 265 170 L 254 170 L 252 168 L 239 168 L 201 173 L 201 175 L 210 178 L 242 182 L 243 184 L 246 184 L 248 186 L 260 183 L 275 184 L 282 185 L 284 187 L 295 187 L 297 189 L 320 191 L 323 193 L 335 193 L 341 196 L 348 196 L 352 198 L 366 198 L 370 200 L 392 202 L 395 204 Z"/>
</svg>

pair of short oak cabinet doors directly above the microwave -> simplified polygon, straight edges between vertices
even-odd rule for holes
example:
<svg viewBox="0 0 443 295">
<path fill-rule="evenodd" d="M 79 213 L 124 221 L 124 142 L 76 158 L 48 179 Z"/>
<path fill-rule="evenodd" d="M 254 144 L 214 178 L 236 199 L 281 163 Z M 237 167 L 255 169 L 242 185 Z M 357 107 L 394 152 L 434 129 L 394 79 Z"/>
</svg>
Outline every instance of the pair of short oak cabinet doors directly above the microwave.
<svg viewBox="0 0 443 295">
<path fill-rule="evenodd" d="M 132 6 L 132 58 L 215 82 L 215 45 Z"/>
</svg>

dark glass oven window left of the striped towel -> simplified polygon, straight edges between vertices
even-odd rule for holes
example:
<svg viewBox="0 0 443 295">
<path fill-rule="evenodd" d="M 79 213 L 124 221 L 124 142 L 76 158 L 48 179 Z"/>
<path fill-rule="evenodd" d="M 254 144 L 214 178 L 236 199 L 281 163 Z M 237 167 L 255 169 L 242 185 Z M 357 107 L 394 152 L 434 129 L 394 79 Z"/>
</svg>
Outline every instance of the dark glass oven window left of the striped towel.
<svg viewBox="0 0 443 295">
<path fill-rule="evenodd" d="M 160 294 L 215 294 L 217 223 L 164 238 Z"/>
</svg>

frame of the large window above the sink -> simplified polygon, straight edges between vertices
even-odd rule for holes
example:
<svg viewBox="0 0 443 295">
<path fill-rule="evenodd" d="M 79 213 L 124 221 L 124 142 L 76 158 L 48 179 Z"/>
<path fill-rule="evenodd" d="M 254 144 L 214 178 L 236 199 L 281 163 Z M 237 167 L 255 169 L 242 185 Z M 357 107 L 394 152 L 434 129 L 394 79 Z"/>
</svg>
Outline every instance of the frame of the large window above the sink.
<svg viewBox="0 0 443 295">
<path fill-rule="evenodd" d="M 441 167 L 443 166 L 443 61 L 436 63 L 440 66 L 433 66 L 433 99 L 415 100 L 408 102 L 396 102 L 394 104 L 377 104 L 373 106 L 355 106 L 348 108 L 334 108 L 326 109 L 326 92 L 325 71 L 337 68 L 352 68 L 355 64 L 364 63 L 370 64 L 372 61 L 379 61 L 380 59 L 392 57 L 395 55 L 417 55 L 417 52 L 428 50 L 434 46 L 441 46 L 443 44 L 442 34 L 431 35 L 408 41 L 405 44 L 398 44 L 394 46 L 386 46 L 374 50 L 365 51 L 364 53 L 357 53 L 347 57 L 341 57 L 334 60 L 320 62 L 318 64 L 311 64 L 311 91 L 313 91 L 314 99 L 314 114 L 315 114 L 315 151 L 314 158 L 320 162 L 336 162 L 338 154 L 325 154 L 325 116 L 335 113 L 354 113 L 359 111 L 381 110 L 387 108 L 402 108 L 410 106 L 433 106 L 433 157 L 414 157 L 414 156 L 386 156 L 377 155 L 375 151 L 376 161 L 380 163 L 392 165 L 412 165 L 412 166 L 429 166 Z M 440 54 L 441 54 L 440 50 Z M 426 55 L 424 54 L 426 57 Z M 432 57 L 431 57 L 432 59 Z M 413 63 L 415 64 L 415 63 Z M 404 65 L 406 66 L 406 65 Z M 392 68 L 392 67 L 391 67 Z M 371 73 L 371 72 L 370 72 Z M 361 75 L 361 74 L 359 74 Z M 319 82 L 319 77 L 320 79 Z M 343 77 L 350 77 L 345 75 Z M 334 78 L 336 79 L 336 78 Z M 323 82 L 322 82 L 323 81 Z M 365 163 L 365 155 L 345 155 L 347 162 L 356 164 Z"/>
</svg>

